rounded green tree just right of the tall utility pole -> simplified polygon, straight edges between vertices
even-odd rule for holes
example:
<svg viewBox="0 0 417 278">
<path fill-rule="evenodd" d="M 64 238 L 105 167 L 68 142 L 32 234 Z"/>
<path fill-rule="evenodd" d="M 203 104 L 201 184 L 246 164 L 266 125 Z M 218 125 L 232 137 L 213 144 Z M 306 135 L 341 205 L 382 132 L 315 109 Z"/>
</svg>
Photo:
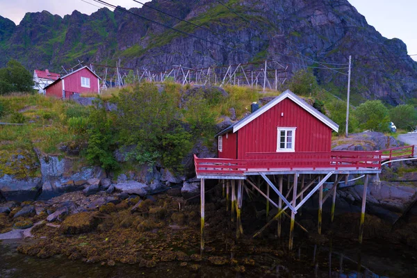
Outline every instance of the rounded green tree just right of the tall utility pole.
<svg viewBox="0 0 417 278">
<path fill-rule="evenodd" d="M 359 127 L 373 131 L 389 131 L 389 110 L 380 100 L 368 100 L 359 105 L 354 113 Z"/>
</svg>

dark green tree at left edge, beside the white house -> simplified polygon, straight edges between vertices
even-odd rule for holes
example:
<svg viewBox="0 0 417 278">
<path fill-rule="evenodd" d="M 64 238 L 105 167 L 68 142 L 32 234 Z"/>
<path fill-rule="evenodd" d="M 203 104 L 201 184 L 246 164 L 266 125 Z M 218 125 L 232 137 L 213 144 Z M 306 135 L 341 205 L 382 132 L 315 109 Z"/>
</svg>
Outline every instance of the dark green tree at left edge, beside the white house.
<svg viewBox="0 0 417 278">
<path fill-rule="evenodd" d="M 32 75 L 17 60 L 0 69 L 0 95 L 10 92 L 33 92 Z"/>
</svg>

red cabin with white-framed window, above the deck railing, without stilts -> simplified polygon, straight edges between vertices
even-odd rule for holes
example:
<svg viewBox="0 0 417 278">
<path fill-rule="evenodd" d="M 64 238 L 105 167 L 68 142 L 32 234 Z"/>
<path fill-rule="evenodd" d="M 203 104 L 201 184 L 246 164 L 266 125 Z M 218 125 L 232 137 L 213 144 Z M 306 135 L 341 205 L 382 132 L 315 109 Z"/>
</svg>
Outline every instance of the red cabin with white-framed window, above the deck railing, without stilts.
<svg viewBox="0 0 417 278">
<path fill-rule="evenodd" d="M 259 110 L 216 135 L 218 157 L 248 153 L 330 152 L 338 125 L 286 90 Z"/>
</svg>

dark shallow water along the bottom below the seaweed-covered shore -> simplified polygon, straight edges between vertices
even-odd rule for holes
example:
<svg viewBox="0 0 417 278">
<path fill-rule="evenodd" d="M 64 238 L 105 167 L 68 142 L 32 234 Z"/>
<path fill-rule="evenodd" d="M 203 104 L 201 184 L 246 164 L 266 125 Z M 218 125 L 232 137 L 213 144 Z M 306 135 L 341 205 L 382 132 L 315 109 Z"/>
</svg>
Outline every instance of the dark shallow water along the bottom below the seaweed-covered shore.
<svg viewBox="0 0 417 278">
<path fill-rule="evenodd" d="M 336 244 L 334 243 L 336 242 Z M 50 259 L 19 254 L 16 241 L 0 244 L 0 277 L 416 277 L 417 252 L 404 245 L 367 242 L 361 248 L 333 240 L 327 246 L 300 245 L 293 254 L 251 255 L 256 266 L 237 273 L 229 266 L 202 263 L 198 271 L 179 262 L 158 263 L 156 268 L 117 263 L 71 261 L 65 256 Z M 213 254 L 212 254 L 213 255 Z M 208 256 L 208 255 L 206 255 Z M 236 257 L 236 255 L 231 254 Z M 358 263 L 359 262 L 359 263 Z M 190 262 L 188 262 L 188 265 Z M 359 266 L 360 265 L 360 266 Z"/>
</svg>

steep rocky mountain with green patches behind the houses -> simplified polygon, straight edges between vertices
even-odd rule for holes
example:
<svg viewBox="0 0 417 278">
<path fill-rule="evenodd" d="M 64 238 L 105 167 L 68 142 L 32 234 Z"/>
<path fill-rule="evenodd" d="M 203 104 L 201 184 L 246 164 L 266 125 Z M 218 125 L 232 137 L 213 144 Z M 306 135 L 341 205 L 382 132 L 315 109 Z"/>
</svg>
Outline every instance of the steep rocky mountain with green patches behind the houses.
<svg viewBox="0 0 417 278">
<path fill-rule="evenodd" d="M 147 5 L 203 28 L 146 6 L 101 8 L 90 16 L 74 11 L 63 18 L 27 13 L 18 26 L 0 17 L 0 65 L 16 58 L 31 70 L 59 71 L 78 59 L 113 65 L 120 59 L 124 67 L 167 70 L 270 58 L 288 65 L 288 72 L 313 67 L 320 84 L 345 95 L 347 76 L 326 69 L 345 65 L 317 61 L 345 64 L 352 55 L 354 99 L 399 104 L 417 97 L 417 63 L 407 56 L 404 42 L 384 38 L 347 0 L 153 0 Z"/>
</svg>

